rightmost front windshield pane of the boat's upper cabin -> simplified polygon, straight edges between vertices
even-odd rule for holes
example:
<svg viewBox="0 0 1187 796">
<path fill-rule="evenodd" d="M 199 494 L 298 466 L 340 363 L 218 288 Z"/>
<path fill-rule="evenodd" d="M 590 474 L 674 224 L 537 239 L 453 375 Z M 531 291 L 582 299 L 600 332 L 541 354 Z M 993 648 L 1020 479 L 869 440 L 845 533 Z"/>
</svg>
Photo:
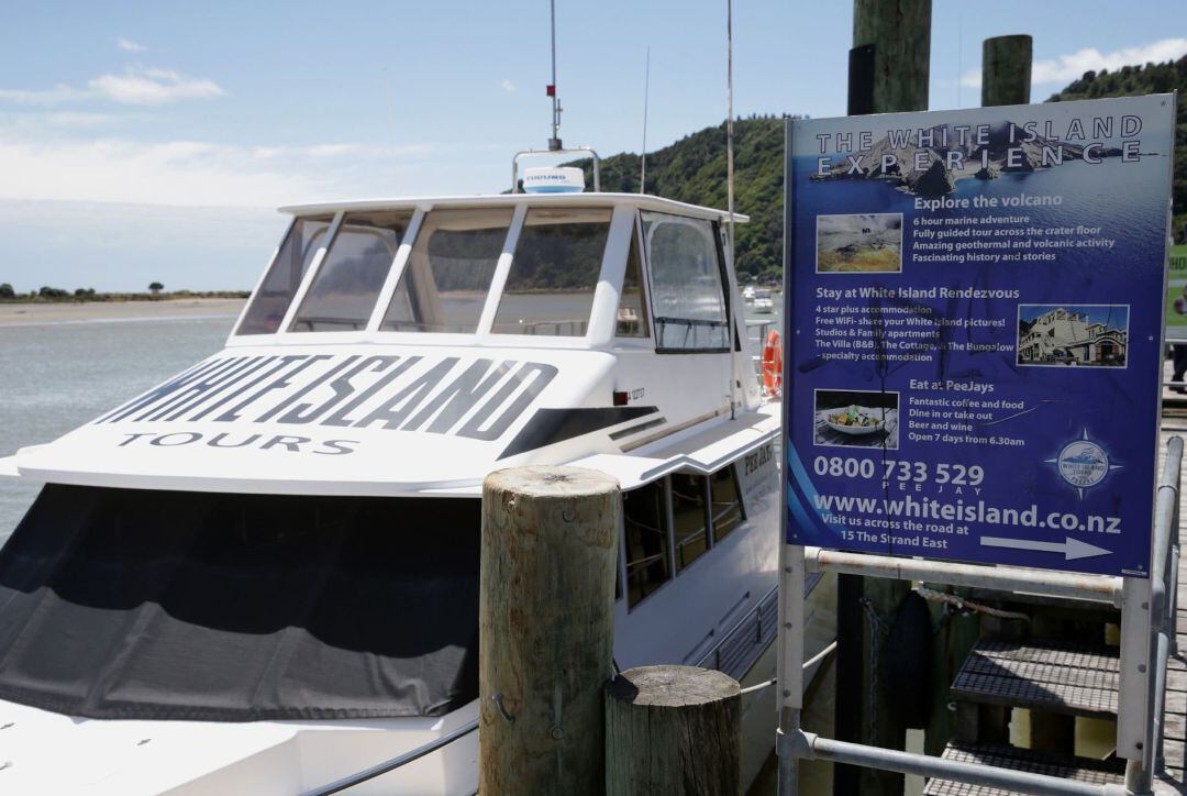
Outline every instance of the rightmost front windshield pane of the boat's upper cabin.
<svg viewBox="0 0 1187 796">
<path fill-rule="evenodd" d="M 584 336 L 609 233 L 609 208 L 529 209 L 490 330 Z"/>
</svg>

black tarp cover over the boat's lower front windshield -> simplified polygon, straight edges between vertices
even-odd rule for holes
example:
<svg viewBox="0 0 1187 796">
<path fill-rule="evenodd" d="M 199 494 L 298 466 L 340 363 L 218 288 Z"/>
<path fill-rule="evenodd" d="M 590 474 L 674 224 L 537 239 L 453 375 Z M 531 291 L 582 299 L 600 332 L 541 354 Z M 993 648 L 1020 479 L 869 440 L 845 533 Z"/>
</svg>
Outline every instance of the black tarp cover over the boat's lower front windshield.
<svg viewBox="0 0 1187 796">
<path fill-rule="evenodd" d="M 0 699 L 96 719 L 477 697 L 480 503 L 49 485 L 0 550 Z"/>
</svg>

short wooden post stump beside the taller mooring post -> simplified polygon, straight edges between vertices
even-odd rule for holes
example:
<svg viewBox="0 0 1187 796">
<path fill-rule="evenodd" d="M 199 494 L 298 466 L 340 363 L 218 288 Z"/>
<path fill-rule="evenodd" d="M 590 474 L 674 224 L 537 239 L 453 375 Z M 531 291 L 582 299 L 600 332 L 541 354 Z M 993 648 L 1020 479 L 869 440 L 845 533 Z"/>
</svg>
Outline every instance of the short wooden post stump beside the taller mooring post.
<svg viewBox="0 0 1187 796">
<path fill-rule="evenodd" d="M 742 696 L 696 667 L 628 669 L 605 687 L 605 794 L 737 796 Z"/>
</svg>

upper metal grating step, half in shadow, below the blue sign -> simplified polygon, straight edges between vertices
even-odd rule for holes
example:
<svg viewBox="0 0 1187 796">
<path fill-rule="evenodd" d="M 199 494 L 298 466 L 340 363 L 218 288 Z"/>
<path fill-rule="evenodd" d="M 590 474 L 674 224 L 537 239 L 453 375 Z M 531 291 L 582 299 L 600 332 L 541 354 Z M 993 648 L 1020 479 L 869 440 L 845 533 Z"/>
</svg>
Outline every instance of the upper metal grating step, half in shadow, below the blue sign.
<svg viewBox="0 0 1187 796">
<path fill-rule="evenodd" d="M 1116 647 L 982 639 L 957 674 L 952 696 L 1112 719 L 1117 716 L 1118 664 Z"/>
</svg>

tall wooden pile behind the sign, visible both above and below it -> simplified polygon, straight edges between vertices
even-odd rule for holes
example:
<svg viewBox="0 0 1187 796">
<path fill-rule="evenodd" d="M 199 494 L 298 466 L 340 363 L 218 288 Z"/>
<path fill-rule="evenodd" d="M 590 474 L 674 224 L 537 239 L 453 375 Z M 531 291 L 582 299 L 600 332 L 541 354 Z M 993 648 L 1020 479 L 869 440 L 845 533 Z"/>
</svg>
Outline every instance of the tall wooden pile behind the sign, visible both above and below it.
<svg viewBox="0 0 1187 796">
<path fill-rule="evenodd" d="M 853 50 L 850 51 L 849 113 L 927 110 L 932 53 L 931 0 L 853 0 Z M 872 646 L 863 601 L 884 623 L 894 621 L 910 585 L 877 577 L 837 579 L 837 738 L 887 748 L 904 748 L 907 729 L 887 708 L 872 671 Z M 877 695 L 877 699 L 875 699 Z M 903 778 L 890 771 L 837 765 L 838 796 L 902 794 Z"/>
</svg>

